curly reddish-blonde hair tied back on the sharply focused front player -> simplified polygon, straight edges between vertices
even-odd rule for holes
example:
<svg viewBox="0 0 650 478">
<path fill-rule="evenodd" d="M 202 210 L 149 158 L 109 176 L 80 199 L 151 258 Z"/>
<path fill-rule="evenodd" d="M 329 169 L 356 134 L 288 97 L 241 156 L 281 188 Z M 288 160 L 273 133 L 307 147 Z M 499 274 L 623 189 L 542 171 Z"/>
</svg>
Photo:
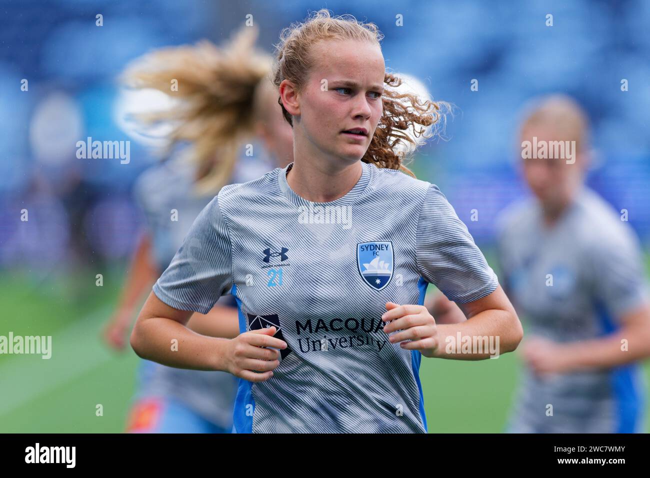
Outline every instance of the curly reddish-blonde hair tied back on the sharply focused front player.
<svg viewBox="0 0 650 478">
<path fill-rule="evenodd" d="M 276 45 L 272 81 L 279 87 L 287 79 L 300 91 L 314 64 L 311 46 L 320 40 L 361 40 L 379 45 L 382 38 L 383 34 L 374 23 L 361 23 L 351 15 L 332 17 L 329 10 L 318 10 L 307 20 L 293 23 L 281 32 L 280 42 Z M 445 113 L 450 111 L 450 105 L 398 92 L 396 88 L 402 84 L 402 79 L 394 73 L 385 72 L 383 82 L 386 85 L 382 95 L 383 114 L 361 161 L 380 168 L 401 170 L 415 178 L 413 172 L 404 166 L 406 158 L 403 152 L 398 152 L 398 145 L 410 146 L 403 149 L 413 152 L 417 145 L 407 131 L 411 129 L 415 137 L 431 137 L 432 131 L 437 132 L 437 126 L 444 124 L 441 119 L 444 120 Z M 281 100 L 278 103 L 285 119 L 292 125 L 291 114 Z"/>
</svg>

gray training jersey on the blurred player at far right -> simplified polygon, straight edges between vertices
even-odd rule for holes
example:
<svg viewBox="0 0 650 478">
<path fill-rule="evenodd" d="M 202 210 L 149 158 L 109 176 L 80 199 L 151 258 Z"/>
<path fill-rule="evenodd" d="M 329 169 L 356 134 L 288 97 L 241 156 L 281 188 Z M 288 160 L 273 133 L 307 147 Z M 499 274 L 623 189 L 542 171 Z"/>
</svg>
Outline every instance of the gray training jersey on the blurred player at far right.
<svg viewBox="0 0 650 478">
<path fill-rule="evenodd" d="M 550 230 L 533 199 L 506 210 L 498 228 L 502 280 L 526 336 L 563 343 L 599 338 L 647 300 L 634 233 L 586 187 Z M 640 372 L 636 364 L 546 378 L 525 370 L 509 431 L 640 431 Z"/>
</svg>

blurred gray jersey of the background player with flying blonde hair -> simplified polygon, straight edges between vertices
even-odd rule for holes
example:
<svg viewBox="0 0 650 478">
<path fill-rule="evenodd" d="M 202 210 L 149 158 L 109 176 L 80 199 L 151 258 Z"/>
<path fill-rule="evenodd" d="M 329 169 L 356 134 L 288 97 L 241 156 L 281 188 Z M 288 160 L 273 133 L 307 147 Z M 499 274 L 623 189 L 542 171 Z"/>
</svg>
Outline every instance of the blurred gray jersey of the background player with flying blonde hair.
<svg viewBox="0 0 650 478">
<path fill-rule="evenodd" d="M 246 166 L 235 169 L 235 178 L 240 180 L 246 171 L 257 173 L 254 178 L 268 170 L 263 165 L 240 165 Z M 196 217 L 214 198 L 214 194 L 200 196 L 194 192 L 195 172 L 192 163 L 179 156 L 149 168 L 136 182 L 136 201 L 146 216 L 146 229 L 160 271 L 169 265 Z M 215 425 L 231 430 L 237 380 L 229 373 L 148 362 L 144 375 L 140 395 L 173 397 Z"/>
</svg>

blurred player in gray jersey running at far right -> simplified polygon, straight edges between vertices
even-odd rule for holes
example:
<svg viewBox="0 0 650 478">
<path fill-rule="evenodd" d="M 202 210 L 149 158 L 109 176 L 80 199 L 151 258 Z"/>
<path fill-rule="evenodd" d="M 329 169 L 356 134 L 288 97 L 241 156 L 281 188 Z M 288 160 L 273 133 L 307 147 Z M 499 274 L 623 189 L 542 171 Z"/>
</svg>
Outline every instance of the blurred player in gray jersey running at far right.
<svg viewBox="0 0 650 478">
<path fill-rule="evenodd" d="M 547 153 L 522 160 L 534 197 L 498 221 L 504 284 L 530 334 L 510 432 L 641 431 L 643 257 L 629 225 L 584 185 L 588 136 L 586 114 L 566 96 L 540 100 L 521 127 L 522 144 Z"/>
</svg>

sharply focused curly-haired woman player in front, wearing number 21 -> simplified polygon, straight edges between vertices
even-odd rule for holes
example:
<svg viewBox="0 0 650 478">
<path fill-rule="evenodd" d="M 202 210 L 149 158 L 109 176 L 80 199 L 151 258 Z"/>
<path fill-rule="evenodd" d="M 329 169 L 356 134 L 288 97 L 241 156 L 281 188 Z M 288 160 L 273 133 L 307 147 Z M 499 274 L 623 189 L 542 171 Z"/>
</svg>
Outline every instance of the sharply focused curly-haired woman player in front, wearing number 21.
<svg viewBox="0 0 650 478">
<path fill-rule="evenodd" d="M 327 10 L 283 31 L 274 84 L 294 162 L 201 211 L 131 334 L 143 358 L 240 377 L 237 432 L 425 432 L 422 354 L 489 356 L 439 347 L 456 332 L 499 336 L 501 353 L 521 340 L 445 196 L 404 174 L 395 144 L 439 120 L 439 105 L 393 90 L 381 38 Z M 471 318 L 437 326 L 421 305 L 427 282 Z M 242 334 L 188 330 L 192 311 L 231 289 Z"/>
</svg>

